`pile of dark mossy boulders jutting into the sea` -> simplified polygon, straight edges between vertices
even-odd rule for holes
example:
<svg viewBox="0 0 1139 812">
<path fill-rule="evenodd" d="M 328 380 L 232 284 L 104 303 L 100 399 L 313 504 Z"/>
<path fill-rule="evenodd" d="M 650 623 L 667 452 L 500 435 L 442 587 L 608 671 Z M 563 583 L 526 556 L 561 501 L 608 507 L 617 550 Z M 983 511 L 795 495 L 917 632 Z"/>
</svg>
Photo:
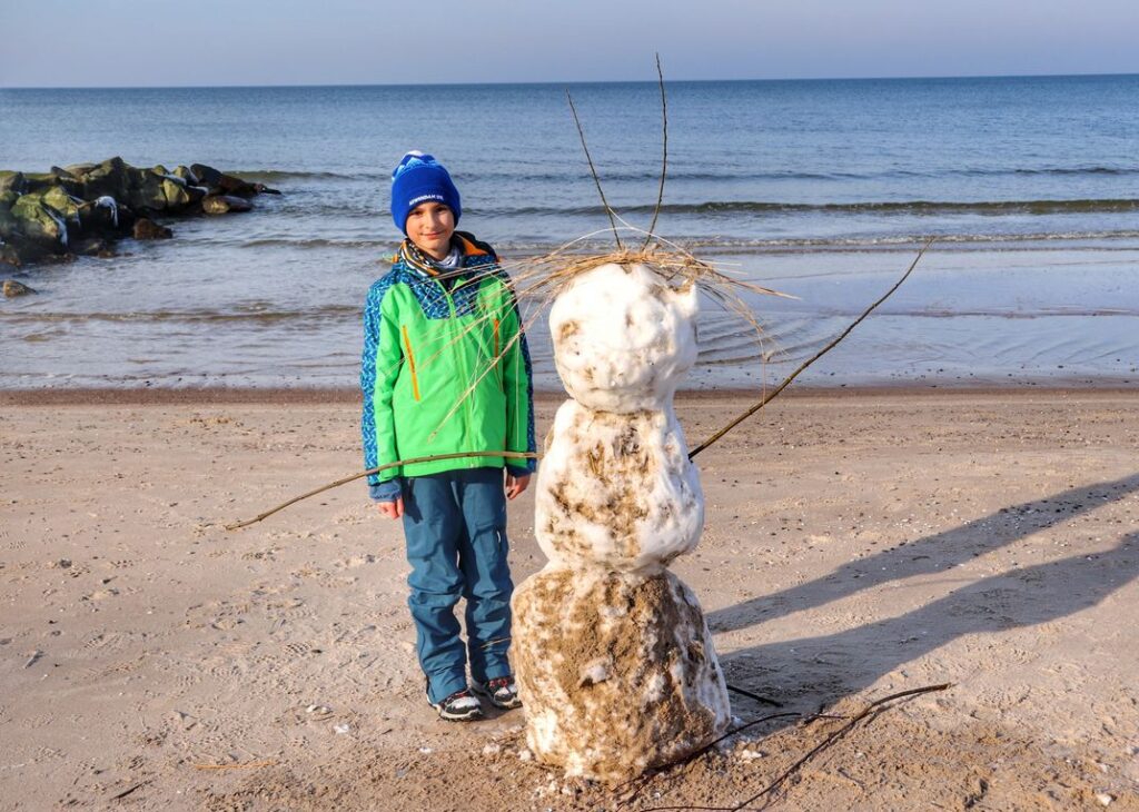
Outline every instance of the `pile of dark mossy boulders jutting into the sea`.
<svg viewBox="0 0 1139 812">
<path fill-rule="evenodd" d="M 125 237 L 170 237 L 156 219 L 247 212 L 262 194 L 280 192 L 204 164 L 171 172 L 114 157 L 42 173 L 0 171 L 0 262 L 108 256 Z"/>
</svg>

